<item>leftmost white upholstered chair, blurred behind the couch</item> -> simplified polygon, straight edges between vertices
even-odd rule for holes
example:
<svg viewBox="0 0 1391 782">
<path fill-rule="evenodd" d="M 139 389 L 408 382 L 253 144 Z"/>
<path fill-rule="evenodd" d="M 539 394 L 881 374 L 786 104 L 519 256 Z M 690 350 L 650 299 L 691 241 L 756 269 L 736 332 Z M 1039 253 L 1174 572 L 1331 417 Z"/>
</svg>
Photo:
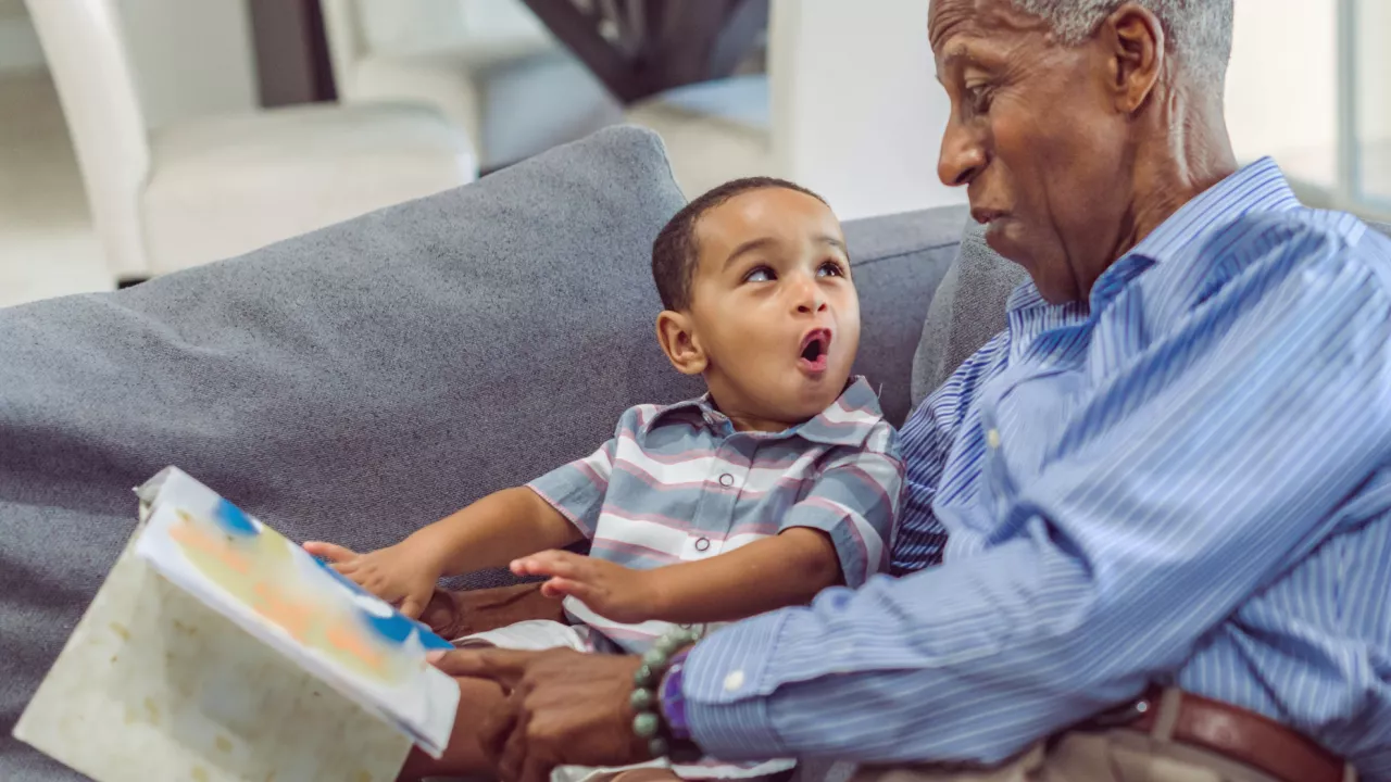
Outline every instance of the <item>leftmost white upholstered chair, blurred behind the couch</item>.
<svg viewBox="0 0 1391 782">
<path fill-rule="evenodd" d="M 470 182 L 467 136 L 423 106 L 310 106 L 150 134 L 115 0 L 28 0 L 117 280 L 230 257 Z"/>
</svg>

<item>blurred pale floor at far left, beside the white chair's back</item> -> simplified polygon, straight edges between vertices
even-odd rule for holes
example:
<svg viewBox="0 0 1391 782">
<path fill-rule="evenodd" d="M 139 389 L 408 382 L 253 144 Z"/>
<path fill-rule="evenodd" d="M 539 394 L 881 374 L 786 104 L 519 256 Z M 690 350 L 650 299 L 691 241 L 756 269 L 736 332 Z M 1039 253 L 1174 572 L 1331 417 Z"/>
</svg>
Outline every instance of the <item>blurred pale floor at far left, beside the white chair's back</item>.
<svg viewBox="0 0 1391 782">
<path fill-rule="evenodd" d="M 0 306 L 111 285 L 53 83 L 0 77 Z"/>
</svg>

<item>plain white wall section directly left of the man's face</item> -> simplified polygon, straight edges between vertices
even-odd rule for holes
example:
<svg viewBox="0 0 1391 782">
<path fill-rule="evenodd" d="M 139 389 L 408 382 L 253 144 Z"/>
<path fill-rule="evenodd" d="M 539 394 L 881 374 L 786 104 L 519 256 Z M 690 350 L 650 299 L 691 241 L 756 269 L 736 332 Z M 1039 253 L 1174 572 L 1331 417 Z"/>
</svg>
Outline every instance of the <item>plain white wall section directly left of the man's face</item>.
<svg viewBox="0 0 1391 782">
<path fill-rule="evenodd" d="M 926 0 L 773 0 L 778 170 L 842 220 L 964 203 L 938 181 L 949 115 Z"/>
</svg>

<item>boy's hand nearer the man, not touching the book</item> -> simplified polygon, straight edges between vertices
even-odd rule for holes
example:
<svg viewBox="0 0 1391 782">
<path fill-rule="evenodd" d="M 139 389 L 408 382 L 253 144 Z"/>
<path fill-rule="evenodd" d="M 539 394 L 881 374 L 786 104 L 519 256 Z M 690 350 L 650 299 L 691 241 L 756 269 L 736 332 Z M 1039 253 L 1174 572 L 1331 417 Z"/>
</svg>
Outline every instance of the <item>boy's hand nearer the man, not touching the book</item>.
<svg viewBox="0 0 1391 782">
<path fill-rule="evenodd" d="M 517 576 L 549 576 L 541 586 L 547 597 L 574 597 L 615 622 L 657 619 L 661 593 L 652 573 L 634 570 L 569 551 L 542 551 L 512 562 Z"/>
</svg>

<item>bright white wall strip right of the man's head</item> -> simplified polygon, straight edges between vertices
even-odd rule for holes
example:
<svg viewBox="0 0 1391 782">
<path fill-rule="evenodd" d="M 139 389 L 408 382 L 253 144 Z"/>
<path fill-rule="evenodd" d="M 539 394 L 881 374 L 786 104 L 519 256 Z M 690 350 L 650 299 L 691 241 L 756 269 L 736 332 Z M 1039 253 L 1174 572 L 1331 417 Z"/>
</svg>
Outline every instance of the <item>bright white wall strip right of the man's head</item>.
<svg viewBox="0 0 1391 782">
<path fill-rule="evenodd" d="M 1333 184 L 1338 102 L 1335 3 L 1237 0 L 1225 99 L 1227 129 L 1239 159 L 1273 154 L 1294 175 Z"/>
</svg>

